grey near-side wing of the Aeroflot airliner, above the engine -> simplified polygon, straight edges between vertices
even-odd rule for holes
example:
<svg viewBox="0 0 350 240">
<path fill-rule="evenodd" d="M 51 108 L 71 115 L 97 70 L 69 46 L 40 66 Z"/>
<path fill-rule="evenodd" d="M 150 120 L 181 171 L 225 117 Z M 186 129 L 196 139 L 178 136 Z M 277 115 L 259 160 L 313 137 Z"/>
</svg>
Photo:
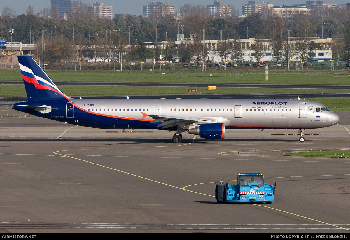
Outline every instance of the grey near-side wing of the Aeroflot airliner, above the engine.
<svg viewBox="0 0 350 240">
<path fill-rule="evenodd" d="M 201 120 L 197 118 L 183 118 L 183 117 L 174 117 L 174 116 L 165 116 L 165 115 L 148 115 L 154 119 L 151 123 L 160 122 L 158 127 L 169 128 L 174 126 L 184 127 L 191 123 L 199 123 L 199 122 L 208 122 L 208 120 Z M 209 122 L 213 122 L 210 121 Z"/>
</svg>

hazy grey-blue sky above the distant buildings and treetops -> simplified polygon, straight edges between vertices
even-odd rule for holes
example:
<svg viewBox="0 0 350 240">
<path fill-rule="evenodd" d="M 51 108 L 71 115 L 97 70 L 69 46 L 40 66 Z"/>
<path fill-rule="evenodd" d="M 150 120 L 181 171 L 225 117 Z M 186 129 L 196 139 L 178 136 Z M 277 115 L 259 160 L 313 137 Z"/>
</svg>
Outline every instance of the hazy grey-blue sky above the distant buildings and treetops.
<svg viewBox="0 0 350 240">
<path fill-rule="evenodd" d="M 242 13 L 242 4 L 247 4 L 248 0 L 237 1 L 237 0 L 219 0 L 224 2 L 225 5 L 233 5 L 235 6 L 240 14 Z M 268 3 L 272 3 L 274 6 L 282 6 L 282 5 L 295 5 L 306 3 L 307 0 L 273 0 L 268 1 Z M 93 0 L 83 0 L 83 3 L 87 5 L 92 5 Z M 132 15 L 142 15 L 143 14 L 143 5 L 148 5 L 148 2 L 161 2 L 161 0 L 136 0 L 136 1 L 125 1 L 125 0 L 99 0 L 99 2 L 103 2 L 107 6 L 113 6 L 113 15 L 114 14 L 132 14 Z M 165 1 L 169 5 L 176 6 L 176 12 L 179 10 L 180 5 L 185 3 L 189 3 L 192 5 L 212 5 L 214 0 L 169 0 Z M 262 4 L 264 1 L 259 1 Z M 336 3 L 336 4 L 345 4 L 350 3 L 350 0 L 331 0 L 328 3 Z M 34 13 L 39 13 L 41 9 L 50 7 L 50 0 L 0 0 L 0 11 L 4 7 L 13 8 L 16 11 L 16 15 L 20 15 L 26 13 L 26 9 L 28 5 L 33 6 Z"/>
</svg>

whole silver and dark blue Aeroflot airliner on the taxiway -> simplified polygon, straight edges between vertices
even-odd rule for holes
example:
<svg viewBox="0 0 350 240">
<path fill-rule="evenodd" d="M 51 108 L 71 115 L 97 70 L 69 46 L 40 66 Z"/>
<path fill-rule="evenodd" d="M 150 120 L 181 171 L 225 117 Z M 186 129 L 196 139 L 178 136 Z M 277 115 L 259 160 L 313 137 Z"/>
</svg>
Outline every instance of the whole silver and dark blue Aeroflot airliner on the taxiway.
<svg viewBox="0 0 350 240">
<path fill-rule="evenodd" d="M 12 108 L 38 117 L 104 129 L 159 129 L 223 139 L 226 129 L 303 129 L 335 125 L 322 104 L 298 99 L 89 99 L 66 96 L 31 56 L 18 56 L 28 101 Z"/>
</svg>

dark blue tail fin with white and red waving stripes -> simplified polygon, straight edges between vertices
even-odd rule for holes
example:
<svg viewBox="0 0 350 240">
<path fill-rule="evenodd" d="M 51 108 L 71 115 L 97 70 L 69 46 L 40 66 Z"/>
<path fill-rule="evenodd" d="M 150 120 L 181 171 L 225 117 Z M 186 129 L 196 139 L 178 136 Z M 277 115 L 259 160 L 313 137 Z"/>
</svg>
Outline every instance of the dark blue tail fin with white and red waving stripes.
<svg viewBox="0 0 350 240">
<path fill-rule="evenodd" d="M 29 101 L 69 99 L 31 56 L 18 56 Z"/>
</svg>

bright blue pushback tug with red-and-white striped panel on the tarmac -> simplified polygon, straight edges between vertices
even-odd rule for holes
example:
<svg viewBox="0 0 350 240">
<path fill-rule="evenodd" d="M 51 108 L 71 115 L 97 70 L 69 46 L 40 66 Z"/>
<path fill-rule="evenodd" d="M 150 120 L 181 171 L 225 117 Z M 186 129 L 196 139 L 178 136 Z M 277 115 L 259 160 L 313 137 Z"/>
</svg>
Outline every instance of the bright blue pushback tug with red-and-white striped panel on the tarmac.
<svg viewBox="0 0 350 240">
<path fill-rule="evenodd" d="M 239 173 L 237 185 L 229 185 L 228 182 L 215 183 L 215 198 L 220 203 L 256 203 L 266 202 L 271 204 L 275 199 L 275 186 L 264 182 L 261 173 Z"/>
</svg>

